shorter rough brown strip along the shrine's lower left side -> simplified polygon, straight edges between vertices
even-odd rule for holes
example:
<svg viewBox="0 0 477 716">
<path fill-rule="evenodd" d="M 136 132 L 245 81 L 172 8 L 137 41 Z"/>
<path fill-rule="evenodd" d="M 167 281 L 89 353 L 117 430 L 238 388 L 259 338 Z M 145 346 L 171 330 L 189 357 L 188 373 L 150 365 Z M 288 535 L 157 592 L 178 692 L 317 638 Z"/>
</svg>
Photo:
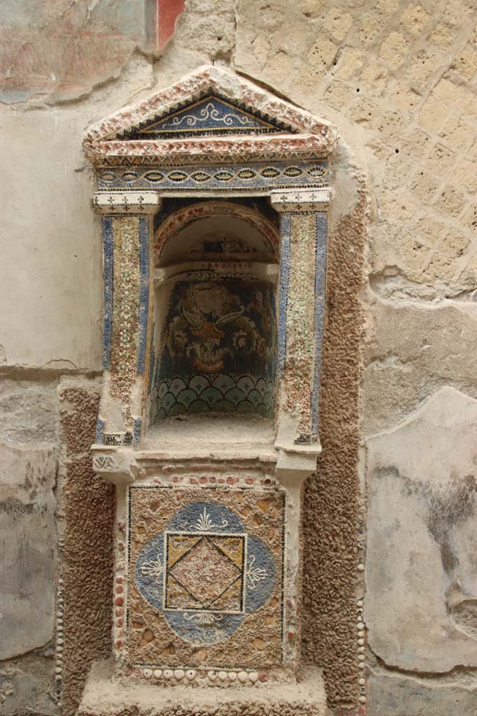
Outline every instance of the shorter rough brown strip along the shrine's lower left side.
<svg viewBox="0 0 477 716">
<path fill-rule="evenodd" d="M 89 448 L 99 406 L 99 382 L 64 379 L 59 385 L 62 458 L 59 511 L 57 662 L 62 711 L 72 713 L 94 659 L 111 654 L 114 488 L 92 470 Z"/>
</svg>

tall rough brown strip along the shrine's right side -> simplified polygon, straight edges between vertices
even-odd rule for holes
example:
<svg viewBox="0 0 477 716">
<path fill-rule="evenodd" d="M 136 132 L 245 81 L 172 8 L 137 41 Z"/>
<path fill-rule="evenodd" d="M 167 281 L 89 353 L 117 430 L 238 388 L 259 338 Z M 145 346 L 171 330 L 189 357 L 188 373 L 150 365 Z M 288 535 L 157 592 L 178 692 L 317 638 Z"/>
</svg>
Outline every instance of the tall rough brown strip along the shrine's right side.
<svg viewBox="0 0 477 716">
<path fill-rule="evenodd" d="M 304 657 L 324 669 L 331 705 L 358 700 L 359 293 L 367 202 L 358 201 L 329 239 L 318 472 L 305 489 Z"/>
</svg>

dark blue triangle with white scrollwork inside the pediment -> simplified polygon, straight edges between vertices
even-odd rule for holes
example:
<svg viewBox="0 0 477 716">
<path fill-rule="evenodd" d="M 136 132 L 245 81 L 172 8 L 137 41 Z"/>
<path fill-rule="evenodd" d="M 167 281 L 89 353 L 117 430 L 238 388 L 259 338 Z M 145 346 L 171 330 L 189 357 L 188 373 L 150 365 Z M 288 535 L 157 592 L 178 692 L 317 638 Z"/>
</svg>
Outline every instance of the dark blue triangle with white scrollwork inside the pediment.
<svg viewBox="0 0 477 716">
<path fill-rule="evenodd" d="M 168 139 L 197 135 L 270 134 L 295 132 L 285 122 L 253 107 L 209 92 L 195 102 L 185 102 L 166 115 L 149 117 L 124 132 L 117 139 Z"/>
</svg>

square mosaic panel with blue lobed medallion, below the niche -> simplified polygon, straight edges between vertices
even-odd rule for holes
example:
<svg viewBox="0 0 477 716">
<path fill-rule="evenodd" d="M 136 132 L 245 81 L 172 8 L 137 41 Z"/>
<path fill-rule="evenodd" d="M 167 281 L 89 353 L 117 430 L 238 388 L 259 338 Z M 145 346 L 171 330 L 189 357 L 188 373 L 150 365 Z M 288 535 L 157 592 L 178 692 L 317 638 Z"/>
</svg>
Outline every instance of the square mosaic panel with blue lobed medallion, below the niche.
<svg viewBox="0 0 477 716">
<path fill-rule="evenodd" d="M 129 662 L 280 665 L 284 520 L 281 490 L 129 488 Z"/>
</svg>

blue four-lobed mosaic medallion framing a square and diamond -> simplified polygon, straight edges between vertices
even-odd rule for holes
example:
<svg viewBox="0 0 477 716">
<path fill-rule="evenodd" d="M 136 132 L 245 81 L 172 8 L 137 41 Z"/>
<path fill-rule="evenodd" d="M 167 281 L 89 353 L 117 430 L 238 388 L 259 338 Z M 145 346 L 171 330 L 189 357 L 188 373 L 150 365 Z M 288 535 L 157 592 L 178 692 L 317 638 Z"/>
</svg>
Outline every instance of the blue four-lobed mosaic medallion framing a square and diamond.
<svg viewBox="0 0 477 716">
<path fill-rule="evenodd" d="M 272 553 L 228 508 L 197 501 L 175 513 L 140 551 L 135 581 L 174 632 L 191 644 L 217 644 L 270 599 Z"/>
</svg>

